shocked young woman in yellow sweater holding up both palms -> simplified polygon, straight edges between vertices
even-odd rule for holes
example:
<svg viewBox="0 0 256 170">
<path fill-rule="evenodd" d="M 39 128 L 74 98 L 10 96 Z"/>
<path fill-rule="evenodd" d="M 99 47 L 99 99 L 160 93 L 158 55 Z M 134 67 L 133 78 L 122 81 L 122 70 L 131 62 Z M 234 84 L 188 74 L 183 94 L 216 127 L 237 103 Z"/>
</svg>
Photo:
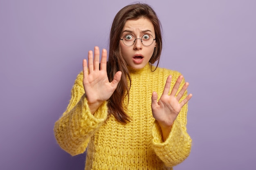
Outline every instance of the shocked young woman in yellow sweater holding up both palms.
<svg viewBox="0 0 256 170">
<path fill-rule="evenodd" d="M 153 66 L 162 51 L 160 22 L 147 4 L 121 9 L 110 49 L 88 52 L 67 110 L 56 121 L 58 144 L 85 152 L 85 170 L 166 170 L 189 156 L 189 84 L 177 71 Z M 166 80 L 167 79 L 167 80 Z"/>
</svg>

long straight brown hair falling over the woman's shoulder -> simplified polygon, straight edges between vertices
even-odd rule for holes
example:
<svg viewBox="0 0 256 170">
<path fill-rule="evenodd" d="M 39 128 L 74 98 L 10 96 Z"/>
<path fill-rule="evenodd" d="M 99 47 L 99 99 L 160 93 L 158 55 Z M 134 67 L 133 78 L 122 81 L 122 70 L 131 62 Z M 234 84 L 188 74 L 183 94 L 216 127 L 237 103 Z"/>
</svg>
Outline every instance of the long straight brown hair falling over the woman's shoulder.
<svg viewBox="0 0 256 170">
<path fill-rule="evenodd" d="M 127 63 L 122 57 L 121 48 L 119 45 L 121 31 L 123 30 L 127 20 L 135 20 L 141 17 L 145 17 L 150 20 L 154 26 L 157 44 L 149 62 L 154 64 L 157 61 L 158 66 L 159 57 L 162 52 L 162 29 L 161 23 L 157 18 L 155 11 L 148 4 L 130 4 L 122 8 L 115 16 L 110 30 L 109 57 L 107 63 L 108 78 L 111 82 L 117 71 L 121 71 L 122 76 L 117 89 L 112 94 L 110 99 L 108 99 L 108 112 L 109 114 L 114 115 L 114 117 L 122 123 L 127 123 L 130 121 L 130 117 L 124 111 L 124 107 L 126 108 L 126 104 L 124 104 L 124 98 L 126 95 L 128 95 L 129 101 L 131 78 L 127 68 Z"/>
</svg>

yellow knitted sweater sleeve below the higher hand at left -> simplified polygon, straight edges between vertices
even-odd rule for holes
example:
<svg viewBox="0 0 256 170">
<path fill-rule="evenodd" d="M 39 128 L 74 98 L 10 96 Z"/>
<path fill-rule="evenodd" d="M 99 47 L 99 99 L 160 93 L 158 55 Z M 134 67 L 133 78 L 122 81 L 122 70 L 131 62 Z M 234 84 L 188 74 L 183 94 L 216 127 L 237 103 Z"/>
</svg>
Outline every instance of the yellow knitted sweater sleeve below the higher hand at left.
<svg viewBox="0 0 256 170">
<path fill-rule="evenodd" d="M 71 91 L 70 103 L 63 115 L 55 122 L 54 135 L 63 150 L 70 155 L 85 151 L 90 137 L 99 129 L 108 115 L 107 102 L 91 114 L 83 88 L 83 73 L 77 77 Z"/>
</svg>

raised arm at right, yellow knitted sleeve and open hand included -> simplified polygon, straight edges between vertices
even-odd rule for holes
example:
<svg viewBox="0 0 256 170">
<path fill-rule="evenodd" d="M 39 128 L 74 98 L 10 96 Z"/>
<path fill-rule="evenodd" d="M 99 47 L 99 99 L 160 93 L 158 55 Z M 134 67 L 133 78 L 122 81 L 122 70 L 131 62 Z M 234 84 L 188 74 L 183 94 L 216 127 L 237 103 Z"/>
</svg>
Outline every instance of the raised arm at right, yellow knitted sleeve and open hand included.
<svg viewBox="0 0 256 170">
<path fill-rule="evenodd" d="M 153 149 L 168 167 L 184 161 L 191 151 L 191 138 L 186 132 L 186 115 L 187 102 L 192 94 L 187 95 L 189 84 L 179 74 L 176 72 L 173 77 L 168 76 L 158 102 L 157 94 L 154 92 L 152 95 L 152 112 L 156 119 L 152 130 Z M 175 84 L 171 89 L 172 78 Z"/>
</svg>

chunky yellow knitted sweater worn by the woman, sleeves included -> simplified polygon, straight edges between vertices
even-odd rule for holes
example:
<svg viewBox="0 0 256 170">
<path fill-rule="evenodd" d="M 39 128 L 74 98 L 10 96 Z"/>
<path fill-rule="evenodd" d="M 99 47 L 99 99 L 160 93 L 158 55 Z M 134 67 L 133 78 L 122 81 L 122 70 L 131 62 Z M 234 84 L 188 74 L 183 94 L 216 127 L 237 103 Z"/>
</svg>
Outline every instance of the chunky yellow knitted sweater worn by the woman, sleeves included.
<svg viewBox="0 0 256 170">
<path fill-rule="evenodd" d="M 180 73 L 164 68 L 152 72 L 147 64 L 140 70 L 130 69 L 130 75 L 127 113 L 131 121 L 127 124 L 108 114 L 107 102 L 92 115 L 84 95 L 83 72 L 75 80 L 70 103 L 56 121 L 54 132 L 58 144 L 71 155 L 81 154 L 87 148 L 85 170 L 172 170 L 189 156 L 191 138 L 186 132 L 187 104 L 182 107 L 164 142 L 151 110 L 152 92 L 156 91 L 160 97 L 168 75 L 173 77 L 172 88 Z"/>
</svg>

